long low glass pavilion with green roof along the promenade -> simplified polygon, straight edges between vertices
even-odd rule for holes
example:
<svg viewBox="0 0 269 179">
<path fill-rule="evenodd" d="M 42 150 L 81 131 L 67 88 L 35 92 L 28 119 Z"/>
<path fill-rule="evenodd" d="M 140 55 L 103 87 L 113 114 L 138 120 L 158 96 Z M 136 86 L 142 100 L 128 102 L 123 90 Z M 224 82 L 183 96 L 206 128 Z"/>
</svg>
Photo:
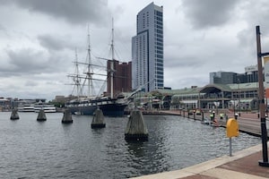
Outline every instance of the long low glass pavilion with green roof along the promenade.
<svg viewBox="0 0 269 179">
<path fill-rule="evenodd" d="M 180 90 L 154 90 L 143 97 L 136 97 L 143 107 L 161 109 L 195 109 L 204 111 L 231 109 L 250 111 L 258 109 L 257 82 L 233 84 L 208 84 Z M 152 99 L 160 99 L 154 103 Z M 154 103 L 154 105 L 153 105 Z"/>
</svg>

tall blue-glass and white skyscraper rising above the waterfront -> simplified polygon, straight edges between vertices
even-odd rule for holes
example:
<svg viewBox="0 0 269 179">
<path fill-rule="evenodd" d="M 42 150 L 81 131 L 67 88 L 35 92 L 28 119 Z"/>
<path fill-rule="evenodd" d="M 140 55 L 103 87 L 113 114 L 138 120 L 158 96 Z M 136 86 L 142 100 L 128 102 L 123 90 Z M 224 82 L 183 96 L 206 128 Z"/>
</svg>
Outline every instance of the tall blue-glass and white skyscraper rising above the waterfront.
<svg viewBox="0 0 269 179">
<path fill-rule="evenodd" d="M 132 88 L 152 91 L 163 88 L 162 6 L 147 5 L 136 16 L 132 38 Z"/>
</svg>

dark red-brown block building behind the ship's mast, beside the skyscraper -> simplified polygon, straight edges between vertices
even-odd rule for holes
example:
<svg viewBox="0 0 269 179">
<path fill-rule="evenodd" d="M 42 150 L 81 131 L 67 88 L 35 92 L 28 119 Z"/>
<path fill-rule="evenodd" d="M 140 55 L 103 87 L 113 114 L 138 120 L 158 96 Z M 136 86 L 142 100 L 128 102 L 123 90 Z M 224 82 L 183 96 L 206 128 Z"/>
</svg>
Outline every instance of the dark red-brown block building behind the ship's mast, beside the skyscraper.
<svg viewBox="0 0 269 179">
<path fill-rule="evenodd" d="M 113 82 L 113 94 L 118 95 L 121 92 L 129 92 L 132 90 L 132 62 L 119 63 L 113 60 L 113 69 L 111 69 L 111 60 L 108 60 L 108 87 Z M 113 70 L 113 79 L 111 79 L 110 71 Z M 111 94 L 111 88 L 108 88 L 108 95 Z"/>
</svg>

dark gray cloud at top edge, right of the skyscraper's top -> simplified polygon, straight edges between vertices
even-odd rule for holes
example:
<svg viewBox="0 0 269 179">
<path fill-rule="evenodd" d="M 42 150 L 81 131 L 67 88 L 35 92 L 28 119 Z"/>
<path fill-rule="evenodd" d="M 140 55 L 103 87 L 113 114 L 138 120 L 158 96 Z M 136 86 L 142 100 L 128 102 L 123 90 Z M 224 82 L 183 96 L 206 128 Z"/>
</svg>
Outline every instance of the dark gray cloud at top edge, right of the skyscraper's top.
<svg viewBox="0 0 269 179">
<path fill-rule="evenodd" d="M 194 28 L 211 28 L 230 21 L 239 2 L 240 0 L 184 0 L 183 11 Z"/>
</svg>

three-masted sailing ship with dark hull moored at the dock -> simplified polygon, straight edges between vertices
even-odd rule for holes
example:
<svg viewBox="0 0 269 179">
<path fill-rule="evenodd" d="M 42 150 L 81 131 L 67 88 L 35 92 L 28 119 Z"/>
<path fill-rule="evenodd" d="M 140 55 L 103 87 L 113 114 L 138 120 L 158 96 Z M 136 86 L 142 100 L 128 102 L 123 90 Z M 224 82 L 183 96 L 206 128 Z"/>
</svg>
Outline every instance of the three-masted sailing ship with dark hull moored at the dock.
<svg viewBox="0 0 269 179">
<path fill-rule="evenodd" d="M 69 75 L 73 77 L 74 79 L 74 85 L 77 88 L 77 93 L 81 94 L 82 90 L 82 84 L 81 84 L 81 79 L 87 80 L 88 81 L 88 90 L 90 91 L 88 94 L 88 97 L 82 97 L 80 95 L 77 95 L 78 98 L 74 98 L 73 100 L 68 101 L 65 104 L 65 107 L 69 108 L 72 114 L 75 115 L 93 115 L 95 110 L 100 107 L 100 110 L 102 110 L 103 115 L 108 115 L 108 116 L 122 116 L 124 115 L 125 108 L 127 107 L 128 103 L 130 102 L 130 97 L 125 98 L 123 95 L 117 95 L 114 96 L 113 94 L 113 72 L 115 72 L 113 68 L 113 61 L 115 60 L 114 58 L 114 29 L 112 25 L 112 40 L 111 40 L 111 51 L 112 51 L 112 60 L 109 60 L 110 62 L 110 69 L 109 69 L 109 74 L 107 73 L 107 77 L 110 77 L 110 80 L 112 81 L 110 83 L 110 95 L 100 95 L 100 96 L 92 96 L 91 93 L 91 87 L 92 87 L 92 81 L 93 80 L 100 80 L 100 79 L 93 79 L 93 69 L 92 67 L 95 66 L 94 64 L 91 64 L 91 48 L 90 48 L 90 35 L 88 33 L 88 60 L 87 63 L 85 63 L 87 67 L 87 72 L 84 74 L 86 76 L 82 77 L 82 75 L 79 74 L 78 72 L 78 64 L 77 57 L 76 57 L 76 70 L 74 75 Z M 108 59 L 107 59 L 108 60 Z M 104 75 L 104 74 L 103 74 Z M 133 95 L 132 95 L 133 96 Z"/>
</svg>

